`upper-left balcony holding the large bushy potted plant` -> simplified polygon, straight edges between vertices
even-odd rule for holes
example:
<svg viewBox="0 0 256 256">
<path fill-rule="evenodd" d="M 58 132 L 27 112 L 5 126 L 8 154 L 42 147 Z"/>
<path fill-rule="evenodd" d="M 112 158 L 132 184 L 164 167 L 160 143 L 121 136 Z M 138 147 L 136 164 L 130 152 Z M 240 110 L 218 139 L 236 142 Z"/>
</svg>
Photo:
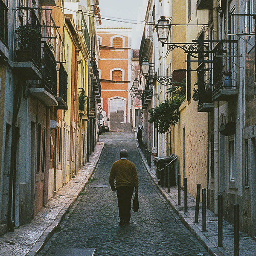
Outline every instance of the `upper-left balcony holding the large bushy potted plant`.
<svg viewBox="0 0 256 256">
<path fill-rule="evenodd" d="M 41 79 L 41 23 L 34 10 L 27 10 L 29 20 L 15 30 L 14 69 L 23 79 Z"/>
</svg>

